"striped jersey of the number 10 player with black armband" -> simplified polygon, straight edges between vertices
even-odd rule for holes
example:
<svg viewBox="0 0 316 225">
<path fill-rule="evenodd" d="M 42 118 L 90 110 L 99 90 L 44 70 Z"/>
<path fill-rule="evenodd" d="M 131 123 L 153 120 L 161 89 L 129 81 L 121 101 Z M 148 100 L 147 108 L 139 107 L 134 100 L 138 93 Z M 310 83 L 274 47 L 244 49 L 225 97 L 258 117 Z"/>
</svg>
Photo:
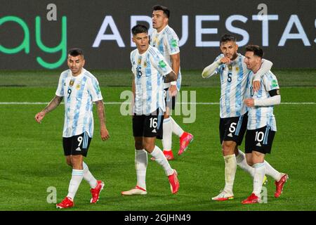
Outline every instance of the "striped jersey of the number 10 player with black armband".
<svg viewBox="0 0 316 225">
<path fill-rule="evenodd" d="M 270 98 L 269 91 L 279 89 L 277 77 L 269 71 L 261 77 L 261 86 L 259 91 L 253 91 L 252 79 L 254 72 L 249 72 L 249 80 L 247 82 L 246 98 L 265 99 Z M 259 129 L 268 126 L 272 131 L 277 131 L 275 115 L 273 115 L 273 105 L 271 106 L 254 106 L 248 108 L 248 124 L 247 129 Z"/>
</svg>

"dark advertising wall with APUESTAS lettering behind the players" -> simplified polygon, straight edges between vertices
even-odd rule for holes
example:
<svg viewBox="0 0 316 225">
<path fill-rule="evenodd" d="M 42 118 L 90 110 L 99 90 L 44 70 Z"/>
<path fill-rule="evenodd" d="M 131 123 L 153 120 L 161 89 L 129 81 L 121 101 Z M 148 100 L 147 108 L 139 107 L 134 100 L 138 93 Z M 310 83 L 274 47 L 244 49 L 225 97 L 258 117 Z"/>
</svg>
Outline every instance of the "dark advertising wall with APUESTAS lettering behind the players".
<svg viewBox="0 0 316 225">
<path fill-rule="evenodd" d="M 46 15 L 48 4 L 57 6 L 57 21 L 48 21 Z M 258 5 L 264 3 L 268 6 L 268 15 L 277 18 L 269 20 L 268 28 L 263 32 L 263 21 L 254 20 L 261 9 Z M 187 40 L 180 47 L 181 67 L 183 69 L 201 69 L 209 65 L 218 55 L 216 45 L 207 44 L 206 41 L 219 41 L 220 36 L 226 32 L 235 32 L 240 45 L 258 44 L 265 50 L 265 58 L 273 61 L 275 68 L 316 68 L 316 1 L 236 1 L 236 0 L 195 0 L 195 1 L 4 1 L 0 0 L 0 69 L 1 70 L 30 70 L 43 68 L 65 68 L 65 52 L 44 52 L 36 41 L 35 18 L 41 18 L 41 40 L 49 47 L 58 46 L 62 31 L 62 17 L 67 17 L 67 43 L 63 49 L 80 47 L 86 54 L 89 69 L 125 69 L 130 68 L 129 53 L 135 49 L 131 46 L 131 16 L 148 16 L 151 18 L 152 6 L 162 4 L 171 10 L 169 25 L 176 30 L 180 39 L 183 38 L 183 27 L 188 27 Z M 187 23 L 183 23 L 183 15 Z M 216 20 L 204 21 L 199 25 L 199 16 L 213 16 Z M 22 19 L 29 30 L 29 53 L 25 49 L 18 53 L 8 53 L 6 50 L 19 46 L 25 39 L 22 27 L 13 21 L 4 23 L 8 16 Z M 93 43 L 103 24 L 103 20 L 112 18 L 117 27 L 117 34 L 121 38 L 119 46 L 115 40 L 100 41 L 98 47 Z M 214 17 L 215 16 L 215 17 Z M 230 27 L 229 20 L 235 21 Z M 236 20 L 239 18 L 240 20 Z M 2 23 L 1 23 L 2 20 Z M 146 24 L 145 22 L 143 22 Z M 227 24 L 226 24 L 227 23 Z M 105 34 L 113 34 L 111 26 L 107 27 Z M 213 34 L 207 34 L 210 30 Z M 237 28 L 237 29 L 236 29 Z M 185 29 L 184 29 L 185 30 Z M 287 39 L 282 43 L 282 36 L 287 33 Z M 249 40 L 245 37 L 249 34 Z M 65 34 L 66 35 L 66 34 Z M 204 41 L 197 43 L 199 37 Z M 264 41 L 263 41 L 264 36 Z M 285 39 L 283 39 L 285 40 Z M 267 42 L 268 41 L 268 42 Z M 200 41 L 201 42 L 201 41 Z M 122 44 L 123 43 L 123 44 Z M 124 45 L 124 47 L 123 47 Z M 239 52 L 244 53 L 240 46 Z M 51 66 L 43 66 L 38 57 Z M 60 63 L 53 64 L 58 62 Z"/>
</svg>

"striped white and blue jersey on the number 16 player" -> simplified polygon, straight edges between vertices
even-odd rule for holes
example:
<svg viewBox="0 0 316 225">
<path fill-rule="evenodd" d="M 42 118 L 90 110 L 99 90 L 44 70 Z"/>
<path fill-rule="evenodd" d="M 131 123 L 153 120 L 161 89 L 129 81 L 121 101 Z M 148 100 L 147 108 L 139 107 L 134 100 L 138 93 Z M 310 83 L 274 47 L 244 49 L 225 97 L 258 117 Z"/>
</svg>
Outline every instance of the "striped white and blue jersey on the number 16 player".
<svg viewBox="0 0 316 225">
<path fill-rule="evenodd" d="M 131 65 L 136 88 L 133 113 L 148 115 L 157 108 L 166 111 L 164 76 L 172 69 L 164 56 L 152 46 L 143 54 L 135 49 L 131 52 Z"/>
</svg>

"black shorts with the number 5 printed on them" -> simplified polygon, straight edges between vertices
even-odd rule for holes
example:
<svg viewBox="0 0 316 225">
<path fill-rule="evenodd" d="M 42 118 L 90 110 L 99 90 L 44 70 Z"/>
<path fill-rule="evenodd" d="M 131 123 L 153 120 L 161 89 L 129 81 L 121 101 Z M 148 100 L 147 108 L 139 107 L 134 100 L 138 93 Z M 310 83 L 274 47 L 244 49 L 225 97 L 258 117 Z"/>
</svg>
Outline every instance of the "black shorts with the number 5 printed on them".
<svg viewBox="0 0 316 225">
<path fill-rule="evenodd" d="M 247 129 L 248 112 L 239 117 L 220 118 L 220 144 L 223 141 L 235 141 L 237 146 L 242 144 Z"/>
</svg>

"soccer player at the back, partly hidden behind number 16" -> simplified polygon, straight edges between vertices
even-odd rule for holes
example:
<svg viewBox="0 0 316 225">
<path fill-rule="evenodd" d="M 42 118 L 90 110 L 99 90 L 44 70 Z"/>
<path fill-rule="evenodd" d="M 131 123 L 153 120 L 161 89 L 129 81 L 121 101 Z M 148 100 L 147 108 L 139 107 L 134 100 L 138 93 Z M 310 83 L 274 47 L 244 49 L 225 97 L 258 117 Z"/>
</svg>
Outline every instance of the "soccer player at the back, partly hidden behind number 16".
<svg viewBox="0 0 316 225">
<path fill-rule="evenodd" d="M 154 31 L 150 35 L 150 45 L 156 47 L 166 59 L 168 65 L 171 66 L 176 73 L 177 80 L 171 83 L 164 83 L 164 91 L 166 91 L 166 113 L 164 114 L 164 134 L 162 146 L 164 155 L 168 160 L 173 160 L 172 133 L 180 138 L 180 149 L 178 155 L 184 153 L 187 146 L 193 141 L 193 136 L 183 129 L 170 116 L 170 110 L 174 110 L 176 104 L 176 94 L 180 91 L 181 72 L 180 72 L 180 49 L 179 38 L 174 30 L 169 27 L 170 11 L 165 6 L 154 6 L 152 8 L 152 27 Z"/>
</svg>

